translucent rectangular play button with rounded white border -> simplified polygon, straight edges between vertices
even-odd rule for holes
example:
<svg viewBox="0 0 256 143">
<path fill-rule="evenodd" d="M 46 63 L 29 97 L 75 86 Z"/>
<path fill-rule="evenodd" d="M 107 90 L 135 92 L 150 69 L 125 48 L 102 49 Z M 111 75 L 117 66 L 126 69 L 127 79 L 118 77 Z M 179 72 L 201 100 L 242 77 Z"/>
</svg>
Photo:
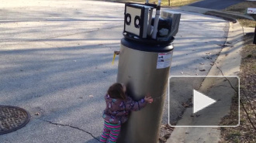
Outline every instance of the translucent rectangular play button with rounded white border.
<svg viewBox="0 0 256 143">
<path fill-rule="evenodd" d="M 240 124 L 238 77 L 171 76 L 168 82 L 171 126 L 236 127 Z"/>
</svg>

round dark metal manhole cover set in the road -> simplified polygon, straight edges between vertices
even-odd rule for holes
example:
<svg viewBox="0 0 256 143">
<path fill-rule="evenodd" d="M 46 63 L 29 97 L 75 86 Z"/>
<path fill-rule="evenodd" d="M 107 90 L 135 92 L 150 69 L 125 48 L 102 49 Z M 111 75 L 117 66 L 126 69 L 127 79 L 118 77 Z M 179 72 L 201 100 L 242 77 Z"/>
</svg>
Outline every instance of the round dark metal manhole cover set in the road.
<svg viewBox="0 0 256 143">
<path fill-rule="evenodd" d="M 29 119 L 29 113 L 20 107 L 0 105 L 0 134 L 7 134 L 24 127 Z"/>
</svg>

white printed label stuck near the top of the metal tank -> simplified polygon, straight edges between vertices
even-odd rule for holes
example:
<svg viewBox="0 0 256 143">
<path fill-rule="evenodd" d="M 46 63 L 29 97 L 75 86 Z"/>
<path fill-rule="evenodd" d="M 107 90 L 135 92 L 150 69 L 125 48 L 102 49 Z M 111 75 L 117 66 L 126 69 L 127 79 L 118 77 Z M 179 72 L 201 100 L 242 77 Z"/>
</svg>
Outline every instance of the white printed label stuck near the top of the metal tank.
<svg viewBox="0 0 256 143">
<path fill-rule="evenodd" d="M 172 52 L 158 53 L 157 69 L 163 69 L 171 66 L 171 55 L 172 55 Z"/>
</svg>

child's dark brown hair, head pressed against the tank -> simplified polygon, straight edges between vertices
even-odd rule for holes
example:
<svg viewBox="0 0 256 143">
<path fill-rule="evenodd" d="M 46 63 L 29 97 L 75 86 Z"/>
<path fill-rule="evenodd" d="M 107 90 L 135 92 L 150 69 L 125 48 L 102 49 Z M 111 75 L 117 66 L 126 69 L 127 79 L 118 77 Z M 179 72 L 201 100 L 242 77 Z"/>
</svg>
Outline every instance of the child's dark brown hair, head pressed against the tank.
<svg viewBox="0 0 256 143">
<path fill-rule="evenodd" d="M 123 92 L 123 85 L 121 83 L 113 83 L 108 90 L 109 97 L 116 98 L 116 99 L 126 99 L 126 95 Z"/>
</svg>

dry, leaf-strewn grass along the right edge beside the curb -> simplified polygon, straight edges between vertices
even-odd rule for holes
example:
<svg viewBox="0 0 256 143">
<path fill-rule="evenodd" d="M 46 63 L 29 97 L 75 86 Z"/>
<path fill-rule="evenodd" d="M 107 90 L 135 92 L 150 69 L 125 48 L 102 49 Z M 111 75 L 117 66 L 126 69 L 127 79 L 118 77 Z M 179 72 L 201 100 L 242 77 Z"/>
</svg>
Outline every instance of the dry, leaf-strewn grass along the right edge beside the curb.
<svg viewBox="0 0 256 143">
<path fill-rule="evenodd" d="M 256 126 L 256 117 L 254 114 L 254 111 L 256 111 L 256 45 L 252 44 L 252 41 L 253 36 L 244 36 L 244 47 L 240 66 L 240 100 L 244 103 L 244 107 L 251 117 L 251 121 Z M 251 102 L 253 108 L 251 108 L 249 102 Z M 223 122 L 228 122 L 229 118 L 236 116 L 236 113 L 231 112 L 229 117 L 223 119 Z M 237 128 L 221 128 L 221 134 L 220 143 L 256 142 L 256 130 L 252 127 L 242 106 L 240 106 L 240 126 Z"/>
</svg>

